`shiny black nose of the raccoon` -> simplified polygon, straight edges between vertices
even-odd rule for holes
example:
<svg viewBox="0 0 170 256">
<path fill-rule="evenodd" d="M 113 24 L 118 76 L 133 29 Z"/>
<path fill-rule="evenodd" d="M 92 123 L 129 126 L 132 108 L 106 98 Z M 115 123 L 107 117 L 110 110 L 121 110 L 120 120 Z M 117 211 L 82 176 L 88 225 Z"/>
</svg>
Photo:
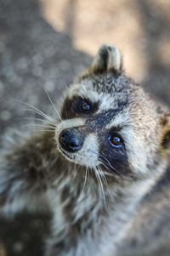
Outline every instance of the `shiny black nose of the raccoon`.
<svg viewBox="0 0 170 256">
<path fill-rule="evenodd" d="M 82 149 L 82 134 L 74 129 L 65 129 L 59 134 L 59 144 L 65 151 L 76 152 Z"/>
</svg>

